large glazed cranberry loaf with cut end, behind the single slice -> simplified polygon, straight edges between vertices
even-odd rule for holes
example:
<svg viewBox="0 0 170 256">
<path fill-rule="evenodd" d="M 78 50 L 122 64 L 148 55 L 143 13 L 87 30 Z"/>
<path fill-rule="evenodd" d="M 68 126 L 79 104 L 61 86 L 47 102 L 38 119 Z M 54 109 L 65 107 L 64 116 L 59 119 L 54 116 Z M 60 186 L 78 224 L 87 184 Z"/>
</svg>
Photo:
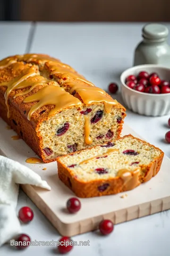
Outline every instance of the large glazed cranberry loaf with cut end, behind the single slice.
<svg viewBox="0 0 170 256">
<path fill-rule="evenodd" d="M 58 59 L 26 54 L 0 61 L 0 116 L 45 163 L 120 137 L 125 111 Z"/>
</svg>

